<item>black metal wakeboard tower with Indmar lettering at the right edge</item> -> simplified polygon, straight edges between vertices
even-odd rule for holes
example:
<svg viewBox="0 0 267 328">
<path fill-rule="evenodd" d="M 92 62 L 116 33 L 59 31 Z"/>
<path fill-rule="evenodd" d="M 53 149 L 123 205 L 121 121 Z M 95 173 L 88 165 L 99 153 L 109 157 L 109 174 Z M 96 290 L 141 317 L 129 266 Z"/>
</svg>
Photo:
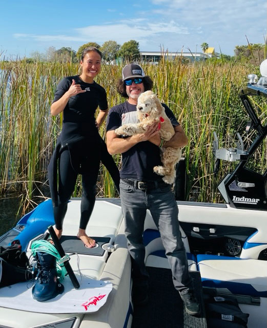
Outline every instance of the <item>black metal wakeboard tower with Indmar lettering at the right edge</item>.
<svg viewBox="0 0 267 328">
<path fill-rule="evenodd" d="M 262 62 L 262 64 L 264 61 Z M 264 64 L 265 65 L 265 64 Z M 267 71 L 261 65 L 261 73 Z M 215 170 L 218 169 L 219 161 L 239 161 L 232 173 L 228 173 L 218 185 L 218 190 L 227 204 L 236 209 L 267 210 L 267 170 L 263 174 L 246 167 L 249 159 L 256 152 L 267 135 L 267 124 L 262 122 L 257 111 L 252 106 L 252 97 L 267 98 L 267 77 L 262 76 L 257 82 L 257 75 L 248 75 L 249 83 L 239 92 L 245 111 L 250 117 L 245 133 L 248 135 L 255 130 L 255 138 L 247 150 L 239 133 L 236 148 L 219 149 L 219 141 L 214 132 L 213 154 L 216 158 Z"/>
</svg>

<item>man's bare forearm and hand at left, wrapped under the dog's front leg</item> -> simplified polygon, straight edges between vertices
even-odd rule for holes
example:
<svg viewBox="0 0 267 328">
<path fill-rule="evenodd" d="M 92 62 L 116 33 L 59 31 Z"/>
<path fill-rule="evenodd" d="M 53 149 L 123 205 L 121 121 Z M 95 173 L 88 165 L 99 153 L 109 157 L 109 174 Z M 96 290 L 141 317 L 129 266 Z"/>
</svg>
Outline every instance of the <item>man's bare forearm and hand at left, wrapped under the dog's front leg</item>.
<svg viewBox="0 0 267 328">
<path fill-rule="evenodd" d="M 139 133 L 128 138 L 119 138 L 114 130 L 107 132 L 107 148 L 111 155 L 127 152 L 134 145 L 141 141 L 147 141 L 158 133 L 158 124 L 153 124 L 146 133 Z"/>
</svg>

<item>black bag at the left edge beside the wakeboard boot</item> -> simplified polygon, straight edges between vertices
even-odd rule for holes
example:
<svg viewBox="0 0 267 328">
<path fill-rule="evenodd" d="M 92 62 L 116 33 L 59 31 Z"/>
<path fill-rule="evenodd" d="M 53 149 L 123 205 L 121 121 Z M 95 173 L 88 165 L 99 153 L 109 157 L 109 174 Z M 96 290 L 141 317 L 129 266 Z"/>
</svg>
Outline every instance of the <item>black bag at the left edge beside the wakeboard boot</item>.
<svg viewBox="0 0 267 328">
<path fill-rule="evenodd" d="M 28 267 L 29 259 L 19 240 L 12 241 L 7 248 L 0 246 L 0 288 L 31 279 Z"/>
</svg>

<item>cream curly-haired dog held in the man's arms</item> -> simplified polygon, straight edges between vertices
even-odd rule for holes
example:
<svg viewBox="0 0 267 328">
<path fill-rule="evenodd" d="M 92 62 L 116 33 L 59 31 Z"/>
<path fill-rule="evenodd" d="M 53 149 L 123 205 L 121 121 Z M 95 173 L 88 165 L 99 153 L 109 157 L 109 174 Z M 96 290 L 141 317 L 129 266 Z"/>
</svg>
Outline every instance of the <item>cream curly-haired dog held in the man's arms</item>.
<svg viewBox="0 0 267 328">
<path fill-rule="evenodd" d="M 148 126 L 155 122 L 159 122 L 160 124 L 159 134 L 161 139 L 168 141 L 175 134 L 164 107 L 162 107 L 160 100 L 152 91 L 146 91 L 140 94 L 136 109 L 139 123 L 122 125 L 115 130 L 117 135 L 130 136 L 144 133 Z M 161 147 L 162 166 L 155 166 L 154 172 L 158 175 L 162 175 L 162 180 L 171 185 L 175 179 L 175 164 L 180 158 L 180 148 Z"/>
</svg>

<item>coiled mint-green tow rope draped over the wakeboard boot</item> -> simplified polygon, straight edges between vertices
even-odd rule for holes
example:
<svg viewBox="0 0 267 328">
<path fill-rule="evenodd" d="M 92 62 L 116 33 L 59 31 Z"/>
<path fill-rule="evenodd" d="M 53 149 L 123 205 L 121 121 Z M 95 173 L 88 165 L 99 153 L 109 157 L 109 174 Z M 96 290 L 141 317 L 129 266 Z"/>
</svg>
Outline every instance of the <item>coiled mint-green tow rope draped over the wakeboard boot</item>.
<svg viewBox="0 0 267 328">
<path fill-rule="evenodd" d="M 31 252 L 33 256 L 36 255 L 36 252 L 43 252 L 53 255 L 56 258 L 56 272 L 58 279 L 61 281 L 67 275 L 64 262 L 69 260 L 70 257 L 69 255 L 66 255 L 64 258 L 61 258 L 51 242 L 47 240 L 35 240 L 31 245 Z"/>
</svg>

